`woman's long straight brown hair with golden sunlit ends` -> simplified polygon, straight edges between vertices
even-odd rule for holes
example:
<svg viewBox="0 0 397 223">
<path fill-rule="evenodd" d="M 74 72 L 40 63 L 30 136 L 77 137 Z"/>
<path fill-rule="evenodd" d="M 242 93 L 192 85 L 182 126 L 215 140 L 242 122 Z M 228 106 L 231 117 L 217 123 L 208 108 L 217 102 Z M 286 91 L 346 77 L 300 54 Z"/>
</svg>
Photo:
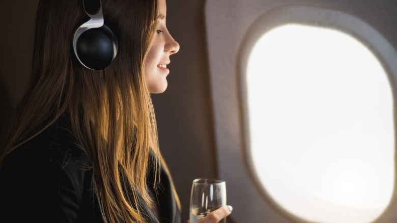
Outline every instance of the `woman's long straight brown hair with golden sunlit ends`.
<svg viewBox="0 0 397 223">
<path fill-rule="evenodd" d="M 118 34 L 119 51 L 107 68 L 95 71 L 80 65 L 71 50 L 74 30 L 86 17 L 82 1 L 40 1 L 30 87 L 9 125 L 0 163 L 63 117 L 70 122 L 76 145 L 93 162 L 94 187 L 105 219 L 145 221 L 130 202 L 136 204 L 137 194 L 134 190 L 125 194 L 123 187 L 135 187 L 152 206 L 146 179 L 151 170 L 158 182 L 159 163 L 154 160 L 153 166 L 148 166 L 151 152 L 169 174 L 159 153 L 154 109 L 144 75 L 158 3 L 102 0 L 102 9 L 105 21 Z M 120 176 L 120 166 L 126 177 Z"/>
</svg>

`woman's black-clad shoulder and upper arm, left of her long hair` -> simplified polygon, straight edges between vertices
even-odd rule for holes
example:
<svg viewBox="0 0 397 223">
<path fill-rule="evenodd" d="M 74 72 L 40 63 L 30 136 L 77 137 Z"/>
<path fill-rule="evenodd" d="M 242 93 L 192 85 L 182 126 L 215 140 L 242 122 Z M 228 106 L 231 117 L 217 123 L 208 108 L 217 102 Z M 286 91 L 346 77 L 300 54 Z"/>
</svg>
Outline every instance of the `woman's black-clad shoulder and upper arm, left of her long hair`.
<svg viewBox="0 0 397 223">
<path fill-rule="evenodd" d="M 97 212 L 92 175 L 92 163 L 76 146 L 73 135 L 62 128 L 49 128 L 16 148 L 3 162 L 0 207 L 19 220 L 38 217 L 74 222 L 92 218 Z M 15 213 L 21 208 L 26 215 Z"/>
</svg>

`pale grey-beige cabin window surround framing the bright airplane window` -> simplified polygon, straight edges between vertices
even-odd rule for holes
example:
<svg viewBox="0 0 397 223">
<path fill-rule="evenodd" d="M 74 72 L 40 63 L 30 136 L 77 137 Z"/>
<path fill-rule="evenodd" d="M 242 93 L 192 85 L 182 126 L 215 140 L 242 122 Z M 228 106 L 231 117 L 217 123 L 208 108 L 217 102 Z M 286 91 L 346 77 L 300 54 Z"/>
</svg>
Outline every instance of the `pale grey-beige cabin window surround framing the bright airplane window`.
<svg viewBox="0 0 397 223">
<path fill-rule="evenodd" d="M 227 33 L 226 29 L 229 29 L 229 26 L 222 26 L 222 22 L 230 21 L 227 21 L 224 18 L 226 16 L 221 13 L 223 10 L 229 10 L 230 14 L 236 13 L 239 5 L 231 4 L 231 7 L 221 9 L 221 5 L 215 2 L 207 1 L 206 4 L 207 42 L 218 177 L 226 181 L 228 194 L 232 194 L 228 196 L 228 203 L 235 206 L 236 211 L 231 217 L 236 222 L 254 222 L 258 219 L 269 219 L 269 222 L 307 222 L 273 201 L 262 187 L 249 158 L 245 72 L 253 44 L 265 32 L 288 23 L 327 27 L 347 33 L 372 50 L 380 61 L 388 75 L 393 92 L 393 104 L 396 98 L 394 89 L 397 79 L 397 63 L 393 62 L 397 61 L 397 52 L 387 39 L 363 20 L 342 11 L 306 6 L 275 8 L 260 12 L 259 18 L 255 20 L 252 20 L 251 16 L 250 21 L 244 22 L 238 21 L 239 17 L 227 17 L 242 24 L 240 29 L 244 28 L 241 30 L 246 32 L 242 36 L 222 39 L 224 35 L 222 32 Z M 232 12 L 230 12 L 231 8 Z M 230 41 L 230 44 L 236 44 L 237 47 L 227 48 L 219 41 Z M 395 138 L 394 135 L 394 141 Z M 397 219 L 396 183 L 394 182 L 389 206 L 375 222 L 394 222 Z M 244 196 L 241 194 L 242 191 Z"/>
</svg>

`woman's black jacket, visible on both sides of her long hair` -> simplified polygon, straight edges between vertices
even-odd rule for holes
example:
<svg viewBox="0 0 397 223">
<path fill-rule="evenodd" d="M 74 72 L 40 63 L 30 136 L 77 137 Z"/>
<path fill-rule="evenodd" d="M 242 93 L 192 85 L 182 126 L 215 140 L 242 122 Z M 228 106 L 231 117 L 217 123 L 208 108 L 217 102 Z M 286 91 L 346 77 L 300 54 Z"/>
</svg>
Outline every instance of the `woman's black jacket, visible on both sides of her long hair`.
<svg viewBox="0 0 397 223">
<path fill-rule="evenodd" d="M 0 169 L 2 222 L 103 222 L 93 187 L 92 162 L 76 147 L 72 136 L 52 127 L 14 150 Z M 124 172 L 123 172 L 124 173 Z M 148 180 L 152 179 L 148 176 Z M 180 223 L 169 176 L 161 171 L 158 201 L 161 223 Z M 148 182 L 149 184 L 151 182 Z M 148 222 L 158 219 L 135 188 L 138 204 Z M 156 198 L 157 197 L 157 198 Z"/>
</svg>

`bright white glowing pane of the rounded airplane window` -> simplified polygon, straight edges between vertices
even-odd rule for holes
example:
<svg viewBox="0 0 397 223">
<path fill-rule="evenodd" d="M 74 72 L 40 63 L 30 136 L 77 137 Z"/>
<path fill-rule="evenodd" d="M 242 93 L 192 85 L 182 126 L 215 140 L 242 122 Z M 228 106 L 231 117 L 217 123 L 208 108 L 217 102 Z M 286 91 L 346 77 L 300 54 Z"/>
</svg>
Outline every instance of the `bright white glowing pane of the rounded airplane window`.
<svg viewBox="0 0 397 223">
<path fill-rule="evenodd" d="M 367 223 L 394 187 L 393 100 L 375 55 L 337 30 L 286 24 L 247 62 L 253 166 L 270 197 L 295 216 Z"/>
</svg>

